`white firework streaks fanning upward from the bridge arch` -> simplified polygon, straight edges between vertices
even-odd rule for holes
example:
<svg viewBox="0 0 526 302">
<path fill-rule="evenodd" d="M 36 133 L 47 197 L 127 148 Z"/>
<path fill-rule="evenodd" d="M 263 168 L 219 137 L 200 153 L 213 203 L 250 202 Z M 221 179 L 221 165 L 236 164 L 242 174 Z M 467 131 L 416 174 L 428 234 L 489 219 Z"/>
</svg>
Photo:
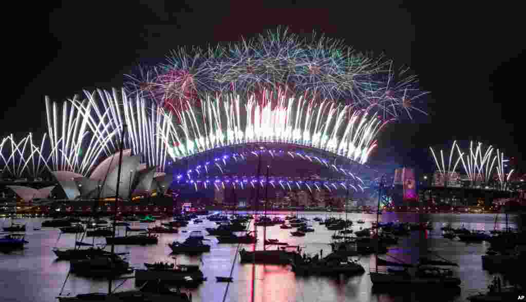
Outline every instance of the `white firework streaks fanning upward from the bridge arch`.
<svg viewBox="0 0 526 302">
<path fill-rule="evenodd" d="M 330 151 L 363 164 L 377 146 L 377 134 L 391 121 L 382 121 L 368 110 L 355 111 L 351 105 L 318 104 L 268 91 L 259 99 L 251 95 L 245 104 L 239 95 L 207 96 L 200 109 L 200 114 L 191 106 L 176 111 L 178 126 L 169 125 L 168 136 L 186 148 L 170 148 L 173 157 L 230 144 L 279 142 Z"/>
</svg>

